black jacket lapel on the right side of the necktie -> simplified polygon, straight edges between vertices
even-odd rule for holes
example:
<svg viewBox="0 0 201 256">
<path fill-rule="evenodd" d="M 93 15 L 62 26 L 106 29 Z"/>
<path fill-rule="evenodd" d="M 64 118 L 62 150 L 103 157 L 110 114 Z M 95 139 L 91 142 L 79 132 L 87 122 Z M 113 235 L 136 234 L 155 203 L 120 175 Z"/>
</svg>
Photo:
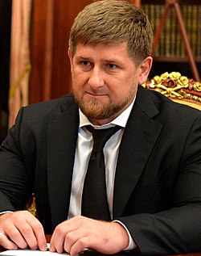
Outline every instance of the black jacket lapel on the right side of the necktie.
<svg viewBox="0 0 201 256">
<path fill-rule="evenodd" d="M 113 217 L 121 216 L 161 132 L 162 124 L 153 119 L 158 113 L 146 91 L 139 86 L 121 140 L 114 183 Z"/>
</svg>

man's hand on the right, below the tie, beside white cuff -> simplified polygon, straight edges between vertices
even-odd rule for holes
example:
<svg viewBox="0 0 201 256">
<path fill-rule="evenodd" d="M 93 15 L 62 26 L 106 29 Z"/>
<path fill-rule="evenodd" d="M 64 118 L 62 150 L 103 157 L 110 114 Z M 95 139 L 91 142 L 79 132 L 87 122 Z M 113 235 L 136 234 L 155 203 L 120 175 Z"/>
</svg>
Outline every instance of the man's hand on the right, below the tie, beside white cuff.
<svg viewBox="0 0 201 256">
<path fill-rule="evenodd" d="M 102 254 L 115 254 L 127 246 L 129 236 L 121 224 L 76 216 L 55 228 L 50 251 L 62 253 L 65 250 L 76 255 L 88 248 Z"/>
</svg>

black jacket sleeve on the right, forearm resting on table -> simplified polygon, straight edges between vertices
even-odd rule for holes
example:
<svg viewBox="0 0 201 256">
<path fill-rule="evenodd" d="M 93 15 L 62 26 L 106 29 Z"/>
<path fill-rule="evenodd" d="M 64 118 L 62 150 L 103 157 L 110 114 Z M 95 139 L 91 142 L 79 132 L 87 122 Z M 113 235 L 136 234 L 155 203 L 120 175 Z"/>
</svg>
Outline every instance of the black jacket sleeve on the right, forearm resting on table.
<svg viewBox="0 0 201 256">
<path fill-rule="evenodd" d="M 119 218 L 142 254 L 201 250 L 201 115 L 187 134 L 172 208 Z"/>
</svg>

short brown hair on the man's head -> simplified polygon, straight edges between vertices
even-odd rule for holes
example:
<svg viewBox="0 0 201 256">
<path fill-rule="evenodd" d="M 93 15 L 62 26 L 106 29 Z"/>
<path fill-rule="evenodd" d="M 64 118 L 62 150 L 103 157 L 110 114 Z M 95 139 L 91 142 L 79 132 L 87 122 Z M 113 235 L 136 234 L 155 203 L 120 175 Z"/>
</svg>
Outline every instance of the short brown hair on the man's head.
<svg viewBox="0 0 201 256">
<path fill-rule="evenodd" d="M 69 48 L 76 45 L 128 43 L 129 56 L 138 65 L 151 55 L 153 32 L 145 12 L 125 1 L 102 0 L 85 6 L 72 25 Z"/>
</svg>

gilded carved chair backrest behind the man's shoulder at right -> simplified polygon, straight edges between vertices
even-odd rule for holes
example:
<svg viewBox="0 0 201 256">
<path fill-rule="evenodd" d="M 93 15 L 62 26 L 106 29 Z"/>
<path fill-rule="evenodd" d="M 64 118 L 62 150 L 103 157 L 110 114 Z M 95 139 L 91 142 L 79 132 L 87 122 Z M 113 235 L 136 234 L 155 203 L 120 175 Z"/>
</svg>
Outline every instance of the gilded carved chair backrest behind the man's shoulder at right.
<svg viewBox="0 0 201 256">
<path fill-rule="evenodd" d="M 178 103 L 201 110 L 201 83 L 178 72 L 162 73 L 146 81 L 146 89 L 157 90 Z"/>
</svg>

